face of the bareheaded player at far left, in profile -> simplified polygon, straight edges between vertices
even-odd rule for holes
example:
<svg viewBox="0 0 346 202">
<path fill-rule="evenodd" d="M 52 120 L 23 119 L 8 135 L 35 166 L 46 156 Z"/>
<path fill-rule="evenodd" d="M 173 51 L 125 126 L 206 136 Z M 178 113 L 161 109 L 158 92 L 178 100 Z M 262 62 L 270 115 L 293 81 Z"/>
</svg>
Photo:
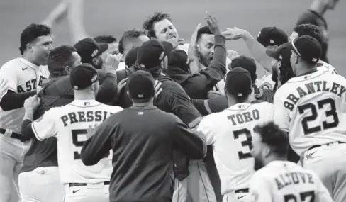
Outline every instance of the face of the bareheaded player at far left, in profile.
<svg viewBox="0 0 346 202">
<path fill-rule="evenodd" d="M 48 56 L 52 49 L 52 38 L 50 35 L 39 36 L 31 44 L 31 52 L 33 52 L 35 61 L 40 65 L 47 65 Z"/>
</svg>

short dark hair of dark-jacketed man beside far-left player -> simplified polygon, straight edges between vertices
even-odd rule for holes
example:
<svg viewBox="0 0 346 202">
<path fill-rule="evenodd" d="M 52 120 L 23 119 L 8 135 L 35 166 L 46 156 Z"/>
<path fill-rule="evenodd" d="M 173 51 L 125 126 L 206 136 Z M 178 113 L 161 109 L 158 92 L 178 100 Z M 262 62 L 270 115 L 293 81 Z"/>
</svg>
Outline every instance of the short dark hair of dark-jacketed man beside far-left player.
<svg viewBox="0 0 346 202">
<path fill-rule="evenodd" d="M 70 45 L 55 47 L 48 56 L 47 67 L 49 72 L 62 72 L 65 67 L 73 65 L 72 52 L 77 52 Z"/>
</svg>

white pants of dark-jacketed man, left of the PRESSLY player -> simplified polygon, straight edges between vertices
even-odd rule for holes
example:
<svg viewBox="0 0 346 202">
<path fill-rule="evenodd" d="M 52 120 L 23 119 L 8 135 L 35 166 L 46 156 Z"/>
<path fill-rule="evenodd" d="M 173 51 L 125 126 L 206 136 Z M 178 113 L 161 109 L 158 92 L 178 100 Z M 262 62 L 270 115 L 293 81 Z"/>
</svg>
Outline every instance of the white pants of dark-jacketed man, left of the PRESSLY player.
<svg viewBox="0 0 346 202">
<path fill-rule="evenodd" d="M 59 167 L 38 167 L 19 174 L 21 202 L 63 202 L 65 187 L 60 182 Z"/>
</svg>

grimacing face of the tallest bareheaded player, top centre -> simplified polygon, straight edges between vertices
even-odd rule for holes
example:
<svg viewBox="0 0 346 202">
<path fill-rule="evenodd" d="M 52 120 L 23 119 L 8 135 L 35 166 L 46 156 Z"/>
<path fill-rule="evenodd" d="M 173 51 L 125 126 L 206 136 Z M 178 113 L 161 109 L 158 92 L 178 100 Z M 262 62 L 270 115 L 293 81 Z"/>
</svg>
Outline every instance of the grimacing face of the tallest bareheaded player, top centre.
<svg viewBox="0 0 346 202">
<path fill-rule="evenodd" d="M 154 23 L 154 31 L 157 40 L 164 41 L 170 38 L 179 38 L 177 29 L 167 19 L 163 19 L 160 22 Z"/>
</svg>

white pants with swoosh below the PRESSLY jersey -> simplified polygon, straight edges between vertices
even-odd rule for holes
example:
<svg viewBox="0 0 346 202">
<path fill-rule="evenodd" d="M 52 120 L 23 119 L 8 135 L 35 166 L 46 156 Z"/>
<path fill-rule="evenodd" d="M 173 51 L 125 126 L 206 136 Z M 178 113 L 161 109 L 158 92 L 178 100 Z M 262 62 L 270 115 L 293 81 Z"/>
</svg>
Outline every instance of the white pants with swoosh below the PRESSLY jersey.
<svg viewBox="0 0 346 202">
<path fill-rule="evenodd" d="M 109 202 L 109 184 L 103 182 L 70 186 L 65 184 L 64 202 Z"/>
</svg>

